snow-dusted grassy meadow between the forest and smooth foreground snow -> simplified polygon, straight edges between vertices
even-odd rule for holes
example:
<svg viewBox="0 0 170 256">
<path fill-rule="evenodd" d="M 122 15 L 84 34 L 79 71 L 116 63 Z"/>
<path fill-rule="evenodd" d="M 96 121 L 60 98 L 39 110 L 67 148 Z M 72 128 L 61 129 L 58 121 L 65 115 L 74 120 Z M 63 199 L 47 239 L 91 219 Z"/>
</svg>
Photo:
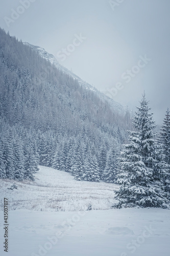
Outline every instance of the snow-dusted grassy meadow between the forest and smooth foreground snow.
<svg viewBox="0 0 170 256">
<path fill-rule="evenodd" d="M 13 184 L 17 189 L 8 189 Z M 104 182 L 76 181 L 68 173 L 40 166 L 34 182 L 1 180 L 0 193 L 8 198 L 11 210 L 76 211 L 110 209 L 116 202 L 113 190 L 117 187 Z"/>
</svg>

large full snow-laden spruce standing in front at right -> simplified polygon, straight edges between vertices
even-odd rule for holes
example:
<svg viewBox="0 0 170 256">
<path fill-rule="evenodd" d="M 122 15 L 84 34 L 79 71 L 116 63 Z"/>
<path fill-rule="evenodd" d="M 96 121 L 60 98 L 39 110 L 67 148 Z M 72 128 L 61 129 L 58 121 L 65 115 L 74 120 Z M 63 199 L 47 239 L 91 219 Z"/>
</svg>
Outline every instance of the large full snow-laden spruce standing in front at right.
<svg viewBox="0 0 170 256">
<path fill-rule="evenodd" d="M 129 131 L 130 144 L 124 145 L 120 158 L 122 172 L 115 191 L 119 203 L 116 207 L 169 207 L 163 189 L 167 164 L 153 132 L 155 122 L 149 114 L 148 102 L 142 96 L 133 118 L 135 131 Z"/>
</svg>

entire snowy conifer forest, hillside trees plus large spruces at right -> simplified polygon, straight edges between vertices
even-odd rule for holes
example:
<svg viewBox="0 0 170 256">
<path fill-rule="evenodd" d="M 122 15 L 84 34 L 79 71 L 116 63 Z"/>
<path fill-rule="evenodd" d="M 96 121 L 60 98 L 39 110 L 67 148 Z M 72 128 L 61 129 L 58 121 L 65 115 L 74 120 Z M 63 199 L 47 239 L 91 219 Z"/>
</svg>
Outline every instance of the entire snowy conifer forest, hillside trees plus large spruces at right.
<svg viewBox="0 0 170 256">
<path fill-rule="evenodd" d="M 34 181 L 44 165 L 120 184 L 118 208 L 169 207 L 168 109 L 157 134 L 145 94 L 131 118 L 2 29 L 0 86 L 1 179 Z"/>
</svg>

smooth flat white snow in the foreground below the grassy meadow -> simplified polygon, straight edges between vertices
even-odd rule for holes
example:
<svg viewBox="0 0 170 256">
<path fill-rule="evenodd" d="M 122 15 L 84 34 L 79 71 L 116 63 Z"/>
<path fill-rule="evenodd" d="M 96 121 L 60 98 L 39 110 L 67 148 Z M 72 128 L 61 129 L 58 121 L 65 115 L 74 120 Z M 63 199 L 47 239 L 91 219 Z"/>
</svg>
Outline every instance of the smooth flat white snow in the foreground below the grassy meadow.
<svg viewBox="0 0 170 256">
<path fill-rule="evenodd" d="M 169 224 L 169 210 L 164 209 L 14 210 L 9 215 L 9 252 L 3 251 L 1 227 L 0 255 L 168 256 Z"/>
</svg>

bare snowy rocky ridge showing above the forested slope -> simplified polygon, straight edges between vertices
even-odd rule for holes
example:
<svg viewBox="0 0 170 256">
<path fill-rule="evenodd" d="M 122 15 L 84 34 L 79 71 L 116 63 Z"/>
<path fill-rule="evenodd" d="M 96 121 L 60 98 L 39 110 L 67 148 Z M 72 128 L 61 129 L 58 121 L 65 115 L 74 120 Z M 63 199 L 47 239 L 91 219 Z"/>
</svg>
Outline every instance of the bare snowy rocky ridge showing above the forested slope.
<svg viewBox="0 0 170 256">
<path fill-rule="evenodd" d="M 91 91 L 96 92 L 100 98 L 102 98 L 103 100 L 107 100 L 109 102 L 110 106 L 113 107 L 119 113 L 125 113 L 125 111 L 127 110 L 126 106 L 123 106 L 120 103 L 118 103 L 118 102 L 114 101 L 113 99 L 109 98 L 107 95 L 105 95 L 104 93 L 98 91 L 96 88 L 92 87 L 89 83 L 83 81 L 76 74 L 72 73 L 67 68 L 62 66 L 58 62 L 58 60 L 55 58 L 55 56 L 53 54 L 50 54 L 50 53 L 46 52 L 44 48 L 39 47 L 39 46 L 31 45 L 31 44 L 29 44 L 29 42 L 23 42 L 23 44 L 31 47 L 32 50 L 34 50 L 35 52 L 39 53 L 41 55 L 41 57 L 43 57 L 46 60 L 50 61 L 52 64 L 54 64 L 62 72 L 66 73 L 66 74 L 72 76 L 74 79 L 78 80 L 80 86 L 84 86 L 87 90 L 91 90 Z"/>
</svg>

